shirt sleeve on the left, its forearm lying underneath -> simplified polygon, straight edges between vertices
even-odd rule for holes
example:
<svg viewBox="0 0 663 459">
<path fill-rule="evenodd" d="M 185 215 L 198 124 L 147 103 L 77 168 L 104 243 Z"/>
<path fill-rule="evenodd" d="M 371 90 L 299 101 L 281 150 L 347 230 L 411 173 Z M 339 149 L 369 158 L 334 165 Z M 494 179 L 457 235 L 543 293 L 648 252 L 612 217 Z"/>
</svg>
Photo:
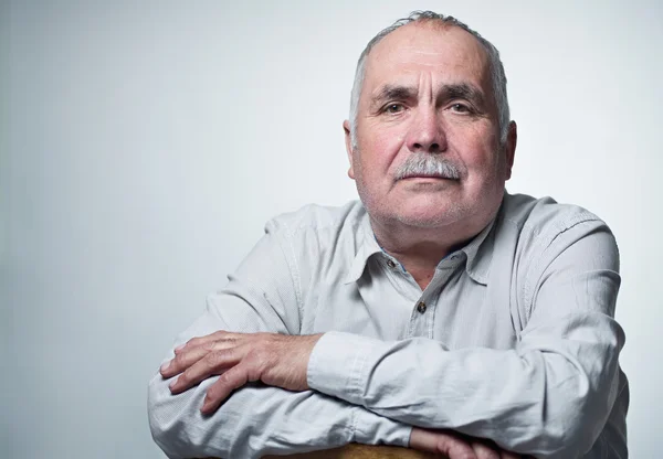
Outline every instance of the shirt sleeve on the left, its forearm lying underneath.
<svg viewBox="0 0 663 459">
<path fill-rule="evenodd" d="M 228 287 L 208 298 L 206 312 L 173 345 L 218 330 L 298 334 L 297 287 L 282 243 L 267 235 L 242 263 Z M 170 351 L 165 359 L 173 356 Z M 170 458 L 259 458 L 327 449 L 348 442 L 407 446 L 411 427 L 314 391 L 293 393 L 250 384 L 211 416 L 200 413 L 208 378 L 178 395 L 157 372 L 148 386 L 152 437 Z"/>
</svg>

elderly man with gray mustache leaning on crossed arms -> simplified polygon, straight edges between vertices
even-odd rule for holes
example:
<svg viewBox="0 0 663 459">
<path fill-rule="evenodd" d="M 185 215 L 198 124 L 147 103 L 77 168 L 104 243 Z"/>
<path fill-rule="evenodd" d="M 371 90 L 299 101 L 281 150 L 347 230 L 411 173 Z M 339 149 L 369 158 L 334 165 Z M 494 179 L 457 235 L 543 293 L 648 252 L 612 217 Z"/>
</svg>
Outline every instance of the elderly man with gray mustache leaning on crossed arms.
<svg viewBox="0 0 663 459">
<path fill-rule="evenodd" d="M 159 446 L 625 458 L 615 242 L 583 209 L 505 192 L 497 50 L 413 13 L 361 54 L 344 129 L 361 202 L 267 223 L 150 382 Z"/>
</svg>

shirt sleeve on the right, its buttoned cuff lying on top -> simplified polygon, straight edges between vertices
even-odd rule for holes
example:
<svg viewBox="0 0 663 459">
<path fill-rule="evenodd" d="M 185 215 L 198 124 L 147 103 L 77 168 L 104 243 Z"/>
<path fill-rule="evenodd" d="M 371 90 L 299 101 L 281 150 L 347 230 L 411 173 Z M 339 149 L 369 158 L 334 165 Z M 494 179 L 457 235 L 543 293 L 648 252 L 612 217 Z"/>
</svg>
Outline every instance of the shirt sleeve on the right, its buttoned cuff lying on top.
<svg viewBox="0 0 663 459">
<path fill-rule="evenodd" d="M 427 338 L 382 342 L 329 332 L 313 350 L 308 385 L 392 419 L 490 438 L 507 450 L 581 456 L 618 393 L 619 255 L 602 222 L 577 224 L 543 247 L 528 254 L 532 309 L 515 349 L 448 350 Z"/>
</svg>

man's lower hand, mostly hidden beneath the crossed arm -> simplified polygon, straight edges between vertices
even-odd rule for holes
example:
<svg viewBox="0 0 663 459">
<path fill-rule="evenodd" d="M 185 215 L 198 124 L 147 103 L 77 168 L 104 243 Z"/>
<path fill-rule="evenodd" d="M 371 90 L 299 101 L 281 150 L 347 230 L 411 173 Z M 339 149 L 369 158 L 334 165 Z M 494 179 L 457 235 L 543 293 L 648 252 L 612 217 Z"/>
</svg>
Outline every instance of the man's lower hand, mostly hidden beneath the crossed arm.
<svg viewBox="0 0 663 459">
<path fill-rule="evenodd" d="M 443 430 L 412 428 L 410 448 L 444 455 L 449 459 L 518 459 L 520 456 L 499 449 L 495 444 Z"/>
</svg>

